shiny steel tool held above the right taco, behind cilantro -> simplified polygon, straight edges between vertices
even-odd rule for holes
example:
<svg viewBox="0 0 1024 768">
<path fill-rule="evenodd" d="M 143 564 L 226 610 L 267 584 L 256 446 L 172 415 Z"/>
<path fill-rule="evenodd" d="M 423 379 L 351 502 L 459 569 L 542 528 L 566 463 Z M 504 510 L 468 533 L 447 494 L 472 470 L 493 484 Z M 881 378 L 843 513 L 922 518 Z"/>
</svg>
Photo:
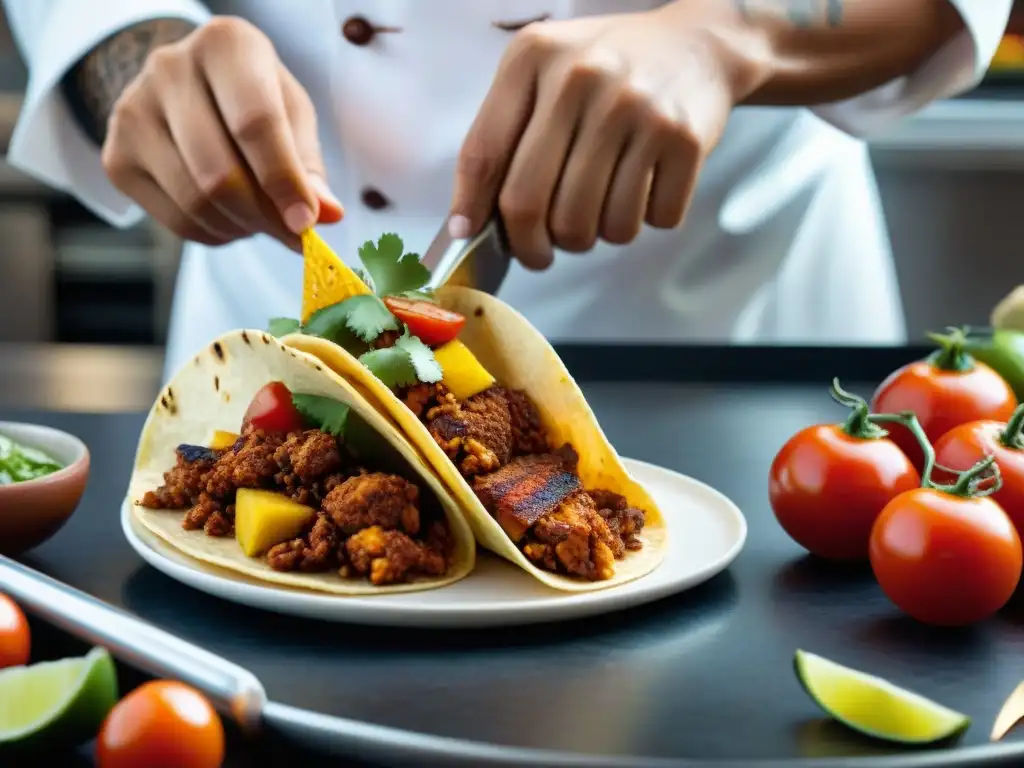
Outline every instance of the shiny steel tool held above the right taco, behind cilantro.
<svg viewBox="0 0 1024 768">
<path fill-rule="evenodd" d="M 466 286 L 492 295 L 508 274 L 512 254 L 501 217 L 495 214 L 475 238 L 454 240 L 445 219 L 422 263 L 430 269 L 428 288 Z"/>
</svg>

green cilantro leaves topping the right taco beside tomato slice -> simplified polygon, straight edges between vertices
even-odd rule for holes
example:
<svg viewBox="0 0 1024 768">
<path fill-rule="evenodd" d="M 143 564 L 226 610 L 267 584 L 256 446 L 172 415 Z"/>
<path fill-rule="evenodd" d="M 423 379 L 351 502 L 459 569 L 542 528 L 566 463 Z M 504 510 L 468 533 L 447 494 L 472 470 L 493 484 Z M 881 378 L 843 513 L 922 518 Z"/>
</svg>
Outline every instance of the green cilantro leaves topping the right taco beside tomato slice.
<svg viewBox="0 0 1024 768">
<path fill-rule="evenodd" d="M 433 292 L 427 288 L 430 270 L 420 263 L 418 254 L 406 253 L 401 238 L 392 232 L 382 234 L 377 243 L 364 243 L 359 260 L 364 268 L 354 271 L 372 294 L 352 296 L 324 307 L 305 324 L 290 317 L 274 317 L 267 329 L 269 333 L 276 337 L 303 333 L 333 341 L 357 356 L 391 389 L 440 381 L 442 371 L 433 351 L 413 336 L 384 303 L 388 296 L 435 301 Z M 392 346 L 370 348 L 388 331 L 402 334 Z M 298 402 L 296 408 L 305 415 Z"/>
</svg>

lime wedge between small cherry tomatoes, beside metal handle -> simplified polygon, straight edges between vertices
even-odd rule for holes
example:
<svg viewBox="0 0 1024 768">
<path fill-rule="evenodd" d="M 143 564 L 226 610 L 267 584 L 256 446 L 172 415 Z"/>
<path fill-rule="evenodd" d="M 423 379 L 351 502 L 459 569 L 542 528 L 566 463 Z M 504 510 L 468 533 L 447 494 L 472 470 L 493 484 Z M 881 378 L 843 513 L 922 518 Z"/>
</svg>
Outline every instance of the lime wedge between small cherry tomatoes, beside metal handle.
<svg viewBox="0 0 1024 768">
<path fill-rule="evenodd" d="M 95 737 L 117 700 L 117 670 L 105 648 L 2 670 L 0 746 L 80 744 Z"/>
</svg>

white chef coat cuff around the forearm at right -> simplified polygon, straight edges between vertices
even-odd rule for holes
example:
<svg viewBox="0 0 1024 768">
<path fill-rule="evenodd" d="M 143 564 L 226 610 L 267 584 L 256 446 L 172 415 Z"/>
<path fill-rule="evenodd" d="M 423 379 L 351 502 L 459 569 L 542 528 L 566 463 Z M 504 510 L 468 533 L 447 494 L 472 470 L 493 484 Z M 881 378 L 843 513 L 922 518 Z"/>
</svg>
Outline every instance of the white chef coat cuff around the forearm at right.
<svg viewBox="0 0 1024 768">
<path fill-rule="evenodd" d="M 948 0 L 965 30 L 912 75 L 813 112 L 855 136 L 878 133 L 929 102 L 963 93 L 984 77 L 1010 20 L 1014 0 Z"/>
</svg>

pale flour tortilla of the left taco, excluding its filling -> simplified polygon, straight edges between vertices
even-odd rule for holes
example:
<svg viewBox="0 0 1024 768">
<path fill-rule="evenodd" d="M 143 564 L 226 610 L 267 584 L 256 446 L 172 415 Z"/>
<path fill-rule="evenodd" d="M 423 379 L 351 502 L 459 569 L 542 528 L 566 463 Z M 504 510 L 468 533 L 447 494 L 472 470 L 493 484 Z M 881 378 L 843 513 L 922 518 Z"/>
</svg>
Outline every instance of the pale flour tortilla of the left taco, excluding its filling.
<svg viewBox="0 0 1024 768">
<path fill-rule="evenodd" d="M 145 492 L 160 486 L 164 472 L 174 466 L 177 445 L 206 444 L 215 429 L 237 432 L 253 396 L 271 381 L 284 382 L 293 392 L 323 395 L 347 403 L 351 408 L 348 429 L 359 429 L 371 436 L 364 442 L 373 445 L 378 454 L 374 467 L 382 463 L 388 469 L 393 466 L 393 471 L 417 482 L 423 493 L 437 497 L 455 542 L 452 567 L 446 575 L 376 587 L 361 579 L 341 579 L 334 571 L 279 572 L 262 558 L 247 557 L 233 537 L 215 538 L 202 530 L 185 530 L 181 527 L 182 512 L 140 506 Z M 378 435 L 383 439 L 378 440 Z M 185 364 L 160 393 L 142 428 L 129 493 L 135 518 L 186 555 L 287 587 L 359 596 L 414 592 L 452 584 L 468 574 L 475 562 L 473 534 L 459 505 L 395 427 L 317 359 L 285 347 L 261 331 L 236 331 L 221 337 Z"/>
</svg>

